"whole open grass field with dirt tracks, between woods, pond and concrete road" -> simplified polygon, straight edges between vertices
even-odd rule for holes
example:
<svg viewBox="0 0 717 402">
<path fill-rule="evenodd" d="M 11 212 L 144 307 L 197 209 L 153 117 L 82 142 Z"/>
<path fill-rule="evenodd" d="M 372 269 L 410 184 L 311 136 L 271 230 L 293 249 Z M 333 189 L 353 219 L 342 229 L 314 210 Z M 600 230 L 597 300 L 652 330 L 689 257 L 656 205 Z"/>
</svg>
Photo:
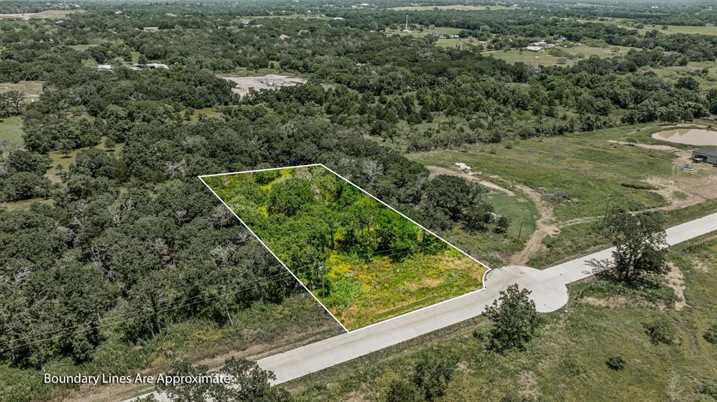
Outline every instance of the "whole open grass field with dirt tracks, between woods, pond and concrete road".
<svg viewBox="0 0 717 402">
<path fill-rule="evenodd" d="M 703 166 L 697 173 L 683 172 L 682 166 L 690 162 L 691 147 L 666 146 L 668 143 L 650 137 L 663 129 L 658 124 L 638 124 L 407 156 L 425 166 L 447 169 L 462 162 L 480 172 L 471 179 L 488 180 L 516 192 L 514 197 L 493 195 L 492 204 L 496 212 L 511 219 L 511 235 L 523 224 L 520 240 L 460 229 L 442 232 L 443 237 L 498 267 L 516 263 L 513 260 L 520 257 L 516 254 L 536 230 L 536 219 L 544 215 L 542 232 L 533 240 L 534 246 L 526 249 L 521 263 L 548 268 L 608 247 L 609 241 L 600 235 L 597 225 L 606 211 L 659 210 L 669 227 L 717 210 L 717 190 L 712 190 L 711 184 L 717 181 L 717 170 Z M 542 205 L 539 214 L 536 202 Z M 514 210 L 523 206 L 529 209 Z"/>
</svg>

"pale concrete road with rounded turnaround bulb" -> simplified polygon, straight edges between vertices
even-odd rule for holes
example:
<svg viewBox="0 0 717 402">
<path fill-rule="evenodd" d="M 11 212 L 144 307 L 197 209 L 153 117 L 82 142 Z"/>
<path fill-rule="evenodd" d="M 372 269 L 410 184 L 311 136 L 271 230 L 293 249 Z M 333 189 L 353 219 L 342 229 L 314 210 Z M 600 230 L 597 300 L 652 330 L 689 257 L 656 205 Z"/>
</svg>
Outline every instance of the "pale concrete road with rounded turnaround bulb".
<svg viewBox="0 0 717 402">
<path fill-rule="evenodd" d="M 667 242 L 675 245 L 715 230 L 717 213 L 670 227 Z M 485 276 L 485 288 L 482 290 L 269 356 L 257 363 L 276 374 L 275 383 L 284 383 L 480 315 L 498 298 L 500 290 L 513 283 L 531 290 L 531 298 L 538 311 L 549 313 L 567 303 L 567 284 L 599 272 L 589 261 L 609 260 L 612 251 L 613 248 L 608 248 L 546 270 L 522 266 L 491 270 Z M 161 396 L 160 400 L 166 401 Z"/>
</svg>

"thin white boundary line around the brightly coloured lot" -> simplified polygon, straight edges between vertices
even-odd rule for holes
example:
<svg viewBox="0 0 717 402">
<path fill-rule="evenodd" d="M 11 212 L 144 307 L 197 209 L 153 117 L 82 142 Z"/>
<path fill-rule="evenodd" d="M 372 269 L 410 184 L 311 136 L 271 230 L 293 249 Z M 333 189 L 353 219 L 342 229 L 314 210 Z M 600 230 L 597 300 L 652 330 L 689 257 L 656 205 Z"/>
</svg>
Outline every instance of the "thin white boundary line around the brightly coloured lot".
<svg viewBox="0 0 717 402">
<path fill-rule="evenodd" d="M 447 245 L 450 245 L 450 247 L 453 247 L 455 250 L 457 250 L 458 252 L 460 252 L 462 255 L 465 255 L 467 258 L 470 258 L 471 260 L 475 261 L 475 263 L 478 263 L 479 265 L 483 266 L 483 268 L 485 268 L 485 272 L 483 273 L 483 279 L 481 280 L 481 288 L 478 289 L 478 290 L 473 290 L 473 292 L 468 292 L 468 293 L 465 293 L 465 294 L 463 294 L 463 295 L 457 295 L 457 296 L 455 296 L 455 297 L 453 297 L 453 298 L 448 298 L 448 299 L 442 300 L 442 301 L 440 301 L 440 302 L 438 302 L 438 303 L 433 303 L 433 304 L 431 304 L 431 305 L 427 305 L 427 306 L 425 306 L 425 307 L 422 307 L 422 308 L 418 308 L 418 309 L 416 309 L 416 310 L 409 311 L 408 313 L 403 313 L 403 314 L 399 314 L 399 315 L 397 315 L 397 316 L 395 316 L 395 317 L 386 318 L 385 320 L 380 320 L 380 321 L 378 321 L 378 322 L 376 322 L 376 323 L 366 325 L 365 327 L 356 328 L 355 330 L 348 330 L 348 329 L 346 329 L 346 327 L 343 326 L 343 324 L 341 323 L 341 321 L 339 321 L 338 318 L 336 318 L 336 316 L 333 315 L 333 314 L 331 313 L 331 311 L 328 310 L 328 308 L 326 308 L 326 305 L 323 305 L 323 303 L 321 303 L 321 300 L 318 300 L 318 298 L 317 298 L 310 290 L 308 290 L 308 288 L 306 288 L 306 286 L 301 282 L 301 280 L 299 280 L 299 278 L 297 278 L 296 275 L 294 275 L 294 273 L 291 272 L 291 270 L 282 262 L 282 260 L 280 260 L 280 259 L 277 257 L 277 255 L 274 254 L 274 252 L 269 248 L 269 246 L 267 246 L 267 245 L 265 244 L 265 242 L 263 242 L 263 241 L 261 240 L 261 238 L 260 238 L 259 236 L 257 236 L 257 234 L 249 227 L 249 225 L 247 225 L 247 224 L 242 220 L 242 218 L 240 218 L 239 216 L 237 216 L 237 214 L 234 212 L 234 210 L 232 210 L 232 208 L 229 207 L 229 205 L 227 205 L 227 203 L 224 202 L 224 200 L 222 200 L 222 197 L 219 197 L 219 195 L 217 195 L 217 193 L 214 192 L 214 190 L 212 190 L 212 187 L 209 187 L 209 185 L 207 185 L 206 182 L 204 181 L 204 177 L 217 177 L 217 176 L 241 175 L 241 174 L 243 174 L 243 173 L 265 172 L 265 171 L 267 171 L 267 170 L 299 169 L 299 168 L 302 168 L 302 167 L 315 167 L 315 166 L 323 167 L 324 169 L 328 170 L 329 172 L 333 173 L 334 175 L 336 175 L 336 176 L 338 176 L 338 177 L 341 177 L 342 180 L 344 180 L 344 181 L 347 182 L 348 184 L 352 185 L 353 187 L 356 187 L 357 189 L 361 190 L 361 192 L 364 192 L 366 195 L 368 195 L 369 197 L 373 198 L 374 200 L 380 202 L 381 205 L 384 205 L 384 206 L 388 207 L 389 210 L 391 210 L 391 211 L 393 211 L 393 212 L 396 212 L 397 214 L 401 215 L 401 216 L 404 217 L 405 219 L 409 220 L 409 222 L 412 222 L 414 225 L 417 225 L 418 227 L 420 227 L 422 230 L 425 230 L 426 232 L 430 233 L 430 234 L 433 235 L 434 237 L 440 239 L 442 242 L 445 242 Z M 341 325 L 341 328 L 343 328 L 343 330 L 346 330 L 347 333 L 355 333 L 355 332 L 357 332 L 357 331 L 364 330 L 364 329 L 366 329 L 366 328 L 370 328 L 370 327 L 372 327 L 372 326 L 374 326 L 374 325 L 378 325 L 378 324 L 381 324 L 381 323 L 385 323 L 386 321 L 394 320 L 394 319 L 399 318 L 399 317 L 402 317 L 402 316 L 404 316 L 404 315 L 409 315 L 409 314 L 412 314 L 412 313 L 417 313 L 418 311 L 424 310 L 425 308 L 431 308 L 432 306 L 440 305 L 440 304 L 446 303 L 446 302 L 448 302 L 448 301 L 450 301 L 450 300 L 454 300 L 454 299 L 457 299 L 457 298 L 462 298 L 462 297 L 464 297 L 464 296 L 471 295 L 471 294 L 476 293 L 476 292 L 480 292 L 481 290 L 485 290 L 485 275 L 488 275 L 488 272 L 491 270 L 491 268 L 488 267 L 488 265 L 485 265 L 484 263 L 481 263 L 480 261 L 476 260 L 475 258 L 473 258 L 473 256 L 469 255 L 468 253 L 465 253 L 465 251 L 463 251 L 463 250 L 460 250 L 460 248 L 456 247 L 455 245 L 452 245 L 450 242 L 448 242 L 447 240 L 445 240 L 443 237 L 440 237 L 439 235 L 435 234 L 435 233 L 432 232 L 431 230 L 428 230 L 426 227 L 424 227 L 423 225 L 421 225 L 419 222 L 416 222 L 415 220 L 412 220 L 410 217 L 407 217 L 406 215 L 404 215 L 404 214 L 403 214 L 402 212 L 400 212 L 399 210 L 396 210 L 396 208 L 391 207 L 391 205 L 386 204 L 386 202 L 383 202 L 383 201 L 379 200 L 378 198 L 374 197 L 374 195 L 372 195 L 370 192 L 367 192 L 366 190 L 362 189 L 361 187 L 359 187 L 359 186 L 353 184 L 353 182 L 351 182 L 351 180 L 348 180 L 348 179 L 346 179 L 346 177 L 343 177 L 343 176 L 339 175 L 338 173 L 334 172 L 333 170 L 331 170 L 330 168 L 326 167 L 326 165 L 323 165 L 322 163 L 313 163 L 313 164 L 310 164 L 310 165 L 298 165 L 298 166 L 288 166 L 288 167 L 272 167 L 272 168 L 269 168 L 269 169 L 244 170 L 244 171 L 242 171 L 242 172 L 217 173 L 217 174 L 214 174 L 214 175 L 201 175 L 201 176 L 198 176 L 198 177 L 199 177 L 199 180 L 201 180 L 201 182 L 203 182 L 204 185 L 205 185 L 207 188 L 209 188 L 209 191 L 211 191 L 212 194 L 214 194 L 214 197 L 217 197 L 217 198 L 219 199 L 219 201 L 221 201 L 222 204 L 224 204 L 225 207 L 229 208 L 229 211 L 231 211 L 232 214 L 233 214 L 235 217 L 237 217 L 237 219 L 239 220 L 239 222 L 242 222 L 242 225 L 244 225 L 244 227 L 246 227 L 247 230 L 249 230 L 249 232 L 251 232 L 252 235 L 254 235 L 254 237 L 256 237 L 257 240 L 259 240 L 259 242 L 260 242 L 264 247 L 266 247 L 267 250 L 269 250 L 269 253 L 271 253 L 271 255 L 273 255 L 274 258 L 276 258 L 276 259 L 279 261 L 279 263 L 280 263 L 284 268 L 286 268 L 286 270 L 288 270 L 289 273 L 290 273 L 296 280 L 298 280 L 298 282 L 303 286 L 303 288 L 304 288 L 310 295 L 313 296 L 313 298 L 321 305 L 321 307 L 323 307 L 324 310 L 326 310 L 326 312 L 328 312 L 328 314 L 331 315 L 331 317 L 332 317 L 334 320 L 336 320 L 336 322 L 338 323 L 338 325 Z"/>
</svg>

